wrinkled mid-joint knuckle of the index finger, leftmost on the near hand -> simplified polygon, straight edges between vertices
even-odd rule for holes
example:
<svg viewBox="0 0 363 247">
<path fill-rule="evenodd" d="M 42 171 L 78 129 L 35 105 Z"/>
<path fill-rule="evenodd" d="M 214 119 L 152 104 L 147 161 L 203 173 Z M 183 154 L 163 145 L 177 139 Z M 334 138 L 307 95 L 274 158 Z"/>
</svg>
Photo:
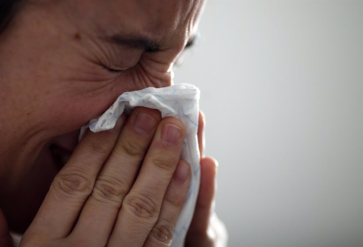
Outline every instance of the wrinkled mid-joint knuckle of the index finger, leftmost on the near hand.
<svg viewBox="0 0 363 247">
<path fill-rule="evenodd" d="M 82 194 L 88 196 L 92 191 L 93 183 L 87 177 L 75 172 L 57 175 L 54 178 L 53 186 L 54 189 L 61 194 Z"/>
</svg>

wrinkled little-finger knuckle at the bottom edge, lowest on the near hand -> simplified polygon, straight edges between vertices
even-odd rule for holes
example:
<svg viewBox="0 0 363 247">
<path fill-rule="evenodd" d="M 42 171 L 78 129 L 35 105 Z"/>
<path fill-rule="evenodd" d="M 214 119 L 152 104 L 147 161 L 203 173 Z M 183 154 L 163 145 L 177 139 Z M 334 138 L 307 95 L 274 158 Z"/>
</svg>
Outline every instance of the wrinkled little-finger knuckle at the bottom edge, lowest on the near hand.
<svg viewBox="0 0 363 247">
<path fill-rule="evenodd" d="M 168 222 L 158 222 L 150 232 L 150 240 L 156 246 L 170 246 L 174 229 Z"/>
</svg>

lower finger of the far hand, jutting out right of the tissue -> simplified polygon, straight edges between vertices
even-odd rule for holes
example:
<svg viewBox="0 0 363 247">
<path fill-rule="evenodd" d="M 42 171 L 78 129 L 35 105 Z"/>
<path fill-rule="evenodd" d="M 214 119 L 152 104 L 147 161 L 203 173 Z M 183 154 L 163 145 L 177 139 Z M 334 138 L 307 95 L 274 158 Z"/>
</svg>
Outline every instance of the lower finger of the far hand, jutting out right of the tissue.
<svg viewBox="0 0 363 247">
<path fill-rule="evenodd" d="M 202 159 L 200 162 L 200 170 L 201 177 L 198 198 L 186 239 L 191 235 L 203 236 L 207 234 L 209 217 L 212 211 L 213 198 L 216 190 L 217 161 L 213 158 Z"/>
</svg>

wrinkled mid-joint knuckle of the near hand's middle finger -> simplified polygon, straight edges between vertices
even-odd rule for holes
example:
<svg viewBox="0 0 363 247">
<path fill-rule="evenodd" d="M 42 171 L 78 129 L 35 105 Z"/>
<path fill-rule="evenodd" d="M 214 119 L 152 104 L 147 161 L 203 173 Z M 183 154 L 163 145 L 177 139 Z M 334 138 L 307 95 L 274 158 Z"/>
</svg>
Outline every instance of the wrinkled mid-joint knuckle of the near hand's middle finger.
<svg viewBox="0 0 363 247">
<path fill-rule="evenodd" d="M 103 177 L 95 182 L 92 196 L 101 202 L 114 202 L 121 206 L 123 198 L 127 194 L 124 183 L 113 177 Z"/>
</svg>

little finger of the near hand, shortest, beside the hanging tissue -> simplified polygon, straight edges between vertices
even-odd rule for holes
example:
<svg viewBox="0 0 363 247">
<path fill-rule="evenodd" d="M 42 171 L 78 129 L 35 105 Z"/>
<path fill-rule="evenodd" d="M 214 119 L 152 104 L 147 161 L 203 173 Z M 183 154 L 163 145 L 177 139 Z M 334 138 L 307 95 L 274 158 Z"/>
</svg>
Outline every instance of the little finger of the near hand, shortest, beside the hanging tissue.
<svg viewBox="0 0 363 247">
<path fill-rule="evenodd" d="M 144 243 L 144 247 L 170 246 L 176 221 L 188 193 L 190 166 L 179 160 L 174 176 L 165 193 L 160 215 Z"/>
</svg>

